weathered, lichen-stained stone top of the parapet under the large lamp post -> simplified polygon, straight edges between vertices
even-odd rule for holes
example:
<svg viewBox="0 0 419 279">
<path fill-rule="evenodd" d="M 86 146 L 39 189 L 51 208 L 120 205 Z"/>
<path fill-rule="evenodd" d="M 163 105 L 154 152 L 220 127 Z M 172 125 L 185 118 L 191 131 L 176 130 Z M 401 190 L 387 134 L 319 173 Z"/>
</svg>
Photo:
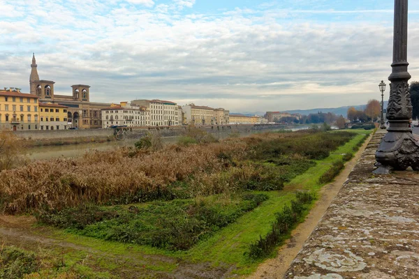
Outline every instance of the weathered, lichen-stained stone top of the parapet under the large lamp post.
<svg viewBox="0 0 419 279">
<path fill-rule="evenodd" d="M 374 175 L 378 130 L 285 278 L 419 278 L 419 173 Z"/>
</svg>

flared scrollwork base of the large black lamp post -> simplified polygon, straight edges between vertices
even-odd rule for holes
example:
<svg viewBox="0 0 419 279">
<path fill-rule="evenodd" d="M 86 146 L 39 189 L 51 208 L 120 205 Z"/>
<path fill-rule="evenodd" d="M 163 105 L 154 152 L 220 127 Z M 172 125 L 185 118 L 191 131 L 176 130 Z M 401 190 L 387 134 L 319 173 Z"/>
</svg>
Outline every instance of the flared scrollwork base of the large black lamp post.
<svg viewBox="0 0 419 279">
<path fill-rule="evenodd" d="M 408 167 L 419 171 L 419 142 L 409 131 L 389 131 L 378 146 L 376 160 L 380 165 L 375 174 Z"/>
</svg>

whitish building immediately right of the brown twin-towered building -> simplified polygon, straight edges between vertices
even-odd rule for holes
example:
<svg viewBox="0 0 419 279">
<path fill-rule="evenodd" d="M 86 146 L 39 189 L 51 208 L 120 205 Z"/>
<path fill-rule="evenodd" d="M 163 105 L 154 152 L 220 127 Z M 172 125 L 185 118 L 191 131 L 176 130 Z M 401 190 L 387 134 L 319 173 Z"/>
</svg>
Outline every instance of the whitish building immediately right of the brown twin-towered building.
<svg viewBox="0 0 419 279">
<path fill-rule="evenodd" d="M 119 105 L 112 104 L 102 109 L 102 128 L 116 126 L 150 126 L 150 112 L 147 107 L 130 105 L 127 102 L 121 102 Z"/>
</svg>

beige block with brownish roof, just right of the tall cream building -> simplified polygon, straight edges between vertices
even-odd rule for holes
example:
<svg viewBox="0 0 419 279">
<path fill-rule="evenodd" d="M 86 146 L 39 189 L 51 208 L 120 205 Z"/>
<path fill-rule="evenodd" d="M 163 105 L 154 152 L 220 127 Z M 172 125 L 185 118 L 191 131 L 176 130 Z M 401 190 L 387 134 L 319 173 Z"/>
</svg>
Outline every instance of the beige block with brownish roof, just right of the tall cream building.
<svg viewBox="0 0 419 279">
<path fill-rule="evenodd" d="M 182 107 L 186 124 L 189 125 L 213 125 L 216 123 L 214 109 L 195 104 L 184 105 Z"/>
</svg>

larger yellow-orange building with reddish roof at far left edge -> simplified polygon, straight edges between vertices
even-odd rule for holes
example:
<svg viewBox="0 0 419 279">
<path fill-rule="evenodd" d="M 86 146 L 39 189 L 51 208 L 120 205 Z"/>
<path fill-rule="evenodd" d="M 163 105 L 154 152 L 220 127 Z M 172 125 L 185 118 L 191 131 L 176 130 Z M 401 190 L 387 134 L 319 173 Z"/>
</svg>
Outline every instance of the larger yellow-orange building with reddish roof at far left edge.
<svg viewBox="0 0 419 279">
<path fill-rule="evenodd" d="M 38 97 L 20 89 L 0 90 L 0 128 L 38 130 Z"/>
</svg>

